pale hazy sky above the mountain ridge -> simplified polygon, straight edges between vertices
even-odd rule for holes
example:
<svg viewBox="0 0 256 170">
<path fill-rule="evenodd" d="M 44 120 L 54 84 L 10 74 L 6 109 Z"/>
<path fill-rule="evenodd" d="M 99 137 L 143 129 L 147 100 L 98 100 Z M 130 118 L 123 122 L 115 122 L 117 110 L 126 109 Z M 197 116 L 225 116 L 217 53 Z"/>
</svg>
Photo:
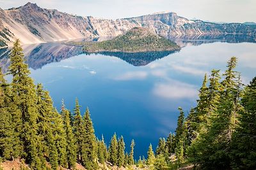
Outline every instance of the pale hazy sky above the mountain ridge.
<svg viewBox="0 0 256 170">
<path fill-rule="evenodd" d="M 127 18 L 160 11 L 212 22 L 256 22 L 256 0 L 0 0 L 0 8 L 30 1 L 41 8 L 98 18 Z"/>
</svg>

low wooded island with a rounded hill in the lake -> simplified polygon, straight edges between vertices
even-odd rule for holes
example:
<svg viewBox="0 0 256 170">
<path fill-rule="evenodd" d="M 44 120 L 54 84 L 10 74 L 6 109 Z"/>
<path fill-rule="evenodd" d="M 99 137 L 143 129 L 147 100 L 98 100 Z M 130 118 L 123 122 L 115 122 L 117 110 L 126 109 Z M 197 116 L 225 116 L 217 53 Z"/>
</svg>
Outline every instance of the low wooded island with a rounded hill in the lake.
<svg viewBox="0 0 256 170">
<path fill-rule="evenodd" d="M 68 45 L 83 46 L 84 52 L 170 52 L 180 50 L 173 41 L 158 36 L 143 27 L 134 27 L 124 35 L 100 42 L 69 42 Z"/>
</svg>

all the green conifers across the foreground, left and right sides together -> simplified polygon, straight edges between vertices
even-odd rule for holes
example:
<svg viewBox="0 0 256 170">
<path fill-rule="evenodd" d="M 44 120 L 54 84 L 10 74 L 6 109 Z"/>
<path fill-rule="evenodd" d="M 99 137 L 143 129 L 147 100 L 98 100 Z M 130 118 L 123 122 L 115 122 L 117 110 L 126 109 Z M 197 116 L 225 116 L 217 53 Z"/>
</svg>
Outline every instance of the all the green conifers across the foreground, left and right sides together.
<svg viewBox="0 0 256 170">
<path fill-rule="evenodd" d="M 222 75 L 205 74 L 196 107 L 187 117 L 179 108 L 175 132 L 138 160 L 134 140 L 127 147 L 114 134 L 107 145 L 95 136 L 90 111 L 82 117 L 78 99 L 73 111 L 64 102 L 60 113 L 54 108 L 30 77 L 19 40 L 10 61 L 10 83 L 0 71 L 0 169 L 256 169 L 256 78 L 244 87 L 236 57 Z"/>
</svg>

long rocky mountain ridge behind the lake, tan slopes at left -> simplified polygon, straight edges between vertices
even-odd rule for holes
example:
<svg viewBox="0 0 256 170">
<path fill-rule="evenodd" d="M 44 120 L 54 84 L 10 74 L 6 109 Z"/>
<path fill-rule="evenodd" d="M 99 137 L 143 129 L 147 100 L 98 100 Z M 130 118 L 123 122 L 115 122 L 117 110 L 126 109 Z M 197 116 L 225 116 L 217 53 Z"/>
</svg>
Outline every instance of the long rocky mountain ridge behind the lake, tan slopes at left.
<svg viewBox="0 0 256 170">
<path fill-rule="evenodd" d="M 0 47 L 12 45 L 15 38 L 23 44 L 61 41 L 99 36 L 118 36 L 133 27 L 148 27 L 160 36 L 246 34 L 256 36 L 256 25 L 214 24 L 188 20 L 176 13 L 154 13 L 117 20 L 80 17 L 47 10 L 27 3 L 19 8 L 0 8 Z"/>
</svg>

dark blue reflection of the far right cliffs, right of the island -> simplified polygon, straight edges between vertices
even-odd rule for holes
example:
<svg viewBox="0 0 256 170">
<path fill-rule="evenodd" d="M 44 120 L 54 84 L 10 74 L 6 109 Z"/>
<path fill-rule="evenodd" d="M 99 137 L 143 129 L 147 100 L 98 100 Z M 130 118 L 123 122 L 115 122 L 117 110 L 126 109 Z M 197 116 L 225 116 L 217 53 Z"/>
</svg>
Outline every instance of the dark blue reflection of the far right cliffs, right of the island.
<svg viewBox="0 0 256 170">
<path fill-rule="evenodd" d="M 177 43 L 177 45 L 184 47 L 187 44 L 202 45 L 204 43 L 226 42 L 226 43 L 256 43 L 254 36 L 245 34 L 226 34 L 226 35 L 200 35 L 200 36 L 175 36 L 168 37 L 168 39 Z"/>
</svg>

